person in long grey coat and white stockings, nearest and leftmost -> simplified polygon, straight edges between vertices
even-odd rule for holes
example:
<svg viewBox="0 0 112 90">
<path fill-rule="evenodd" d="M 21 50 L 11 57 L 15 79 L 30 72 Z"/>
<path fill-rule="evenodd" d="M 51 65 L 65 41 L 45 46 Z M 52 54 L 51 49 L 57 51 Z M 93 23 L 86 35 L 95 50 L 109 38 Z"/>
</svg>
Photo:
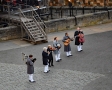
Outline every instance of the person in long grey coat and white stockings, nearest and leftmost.
<svg viewBox="0 0 112 90">
<path fill-rule="evenodd" d="M 29 55 L 29 58 L 27 58 L 27 74 L 29 74 L 29 82 L 34 83 L 33 74 L 34 74 L 34 62 L 33 55 Z"/>
</svg>

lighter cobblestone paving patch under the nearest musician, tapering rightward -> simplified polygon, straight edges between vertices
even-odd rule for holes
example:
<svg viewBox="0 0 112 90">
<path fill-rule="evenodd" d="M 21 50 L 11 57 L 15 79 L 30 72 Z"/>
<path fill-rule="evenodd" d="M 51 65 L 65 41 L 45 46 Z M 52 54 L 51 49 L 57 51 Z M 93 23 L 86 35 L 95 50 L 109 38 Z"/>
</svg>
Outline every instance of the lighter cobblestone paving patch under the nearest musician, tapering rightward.
<svg viewBox="0 0 112 90">
<path fill-rule="evenodd" d="M 0 63 L 1 90 L 82 90 L 85 85 L 102 74 L 53 69 L 48 74 L 42 72 L 43 67 L 36 67 L 34 78 L 36 83 L 28 82 L 25 65 Z M 5 77 L 4 77 L 5 76 Z"/>
</svg>

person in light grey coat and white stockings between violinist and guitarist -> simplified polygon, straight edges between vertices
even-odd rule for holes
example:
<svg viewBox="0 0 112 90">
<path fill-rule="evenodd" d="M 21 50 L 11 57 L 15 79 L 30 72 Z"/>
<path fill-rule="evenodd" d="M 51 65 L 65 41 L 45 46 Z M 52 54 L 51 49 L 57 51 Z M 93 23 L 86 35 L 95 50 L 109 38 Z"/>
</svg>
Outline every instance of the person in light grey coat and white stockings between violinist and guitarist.
<svg viewBox="0 0 112 90">
<path fill-rule="evenodd" d="M 58 42 L 57 37 L 54 38 L 53 47 L 55 48 L 54 49 L 54 54 L 55 54 L 56 62 L 59 62 L 60 60 L 62 60 L 60 58 L 60 48 L 61 48 L 61 44 Z"/>
</svg>

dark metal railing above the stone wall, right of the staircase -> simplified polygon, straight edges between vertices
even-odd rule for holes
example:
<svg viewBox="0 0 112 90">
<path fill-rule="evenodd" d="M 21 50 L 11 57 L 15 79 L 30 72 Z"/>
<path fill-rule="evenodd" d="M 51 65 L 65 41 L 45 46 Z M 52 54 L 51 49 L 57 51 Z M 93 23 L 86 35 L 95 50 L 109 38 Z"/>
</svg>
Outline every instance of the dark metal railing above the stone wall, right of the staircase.
<svg viewBox="0 0 112 90">
<path fill-rule="evenodd" d="M 52 6 L 50 7 L 51 19 L 73 17 L 74 15 L 83 15 L 102 11 L 112 10 L 112 7 L 76 7 L 76 6 Z"/>
</svg>

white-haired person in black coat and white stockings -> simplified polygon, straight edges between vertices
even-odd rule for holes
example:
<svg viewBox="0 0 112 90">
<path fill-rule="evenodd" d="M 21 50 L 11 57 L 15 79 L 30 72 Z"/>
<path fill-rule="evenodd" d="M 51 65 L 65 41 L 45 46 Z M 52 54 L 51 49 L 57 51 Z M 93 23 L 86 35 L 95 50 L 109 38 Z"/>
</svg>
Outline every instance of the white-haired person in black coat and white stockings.
<svg viewBox="0 0 112 90">
<path fill-rule="evenodd" d="M 43 48 L 43 52 L 42 52 L 42 59 L 43 59 L 43 65 L 45 65 L 44 67 L 44 73 L 48 73 L 50 70 L 49 70 L 49 67 L 48 67 L 48 57 L 49 57 L 49 54 L 50 52 L 47 51 L 47 47 L 44 47 Z"/>
</svg>

